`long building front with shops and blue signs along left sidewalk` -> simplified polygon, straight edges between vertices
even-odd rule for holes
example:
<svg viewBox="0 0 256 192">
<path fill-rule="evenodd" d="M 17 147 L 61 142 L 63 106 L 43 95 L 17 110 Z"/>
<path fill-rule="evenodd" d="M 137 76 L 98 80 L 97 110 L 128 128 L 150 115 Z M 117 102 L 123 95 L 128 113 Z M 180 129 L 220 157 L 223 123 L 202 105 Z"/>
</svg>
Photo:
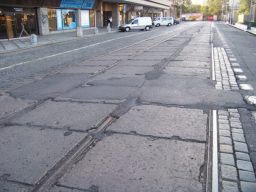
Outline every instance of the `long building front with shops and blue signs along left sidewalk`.
<svg viewBox="0 0 256 192">
<path fill-rule="evenodd" d="M 176 18 L 176 0 L 0 0 L 0 39 L 113 26 L 135 17 Z"/>
</svg>

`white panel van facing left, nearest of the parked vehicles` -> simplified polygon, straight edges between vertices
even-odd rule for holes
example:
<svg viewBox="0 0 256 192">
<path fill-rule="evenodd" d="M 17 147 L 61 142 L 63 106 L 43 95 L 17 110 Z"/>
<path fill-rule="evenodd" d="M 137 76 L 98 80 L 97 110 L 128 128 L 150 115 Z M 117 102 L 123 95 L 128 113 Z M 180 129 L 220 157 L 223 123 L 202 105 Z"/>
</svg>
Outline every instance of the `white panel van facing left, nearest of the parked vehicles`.
<svg viewBox="0 0 256 192">
<path fill-rule="evenodd" d="M 151 28 L 153 28 L 151 17 L 136 17 L 129 20 L 127 24 L 120 25 L 118 30 L 122 32 L 128 32 L 130 30 L 140 29 L 141 31 L 143 31 L 145 29 L 146 31 L 148 31 Z"/>
</svg>

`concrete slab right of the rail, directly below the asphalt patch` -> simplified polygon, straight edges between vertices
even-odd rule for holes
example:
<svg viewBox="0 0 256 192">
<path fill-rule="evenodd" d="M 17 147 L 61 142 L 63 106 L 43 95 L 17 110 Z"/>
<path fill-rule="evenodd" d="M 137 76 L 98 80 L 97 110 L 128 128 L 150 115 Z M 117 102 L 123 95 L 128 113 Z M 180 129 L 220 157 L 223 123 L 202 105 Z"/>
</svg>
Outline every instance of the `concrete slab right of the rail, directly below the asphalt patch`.
<svg viewBox="0 0 256 192">
<path fill-rule="evenodd" d="M 107 131 L 206 142 L 206 123 L 203 110 L 144 105 L 132 107 Z"/>
</svg>

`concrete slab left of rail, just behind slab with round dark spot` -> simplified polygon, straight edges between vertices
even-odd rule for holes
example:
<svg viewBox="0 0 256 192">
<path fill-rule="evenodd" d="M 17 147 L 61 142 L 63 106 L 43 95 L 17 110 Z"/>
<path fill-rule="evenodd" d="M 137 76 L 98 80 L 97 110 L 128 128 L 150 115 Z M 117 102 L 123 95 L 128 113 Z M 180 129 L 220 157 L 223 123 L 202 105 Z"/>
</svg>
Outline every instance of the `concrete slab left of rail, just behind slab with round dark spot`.
<svg viewBox="0 0 256 192">
<path fill-rule="evenodd" d="M 12 122 L 86 131 L 99 124 L 115 107 L 110 104 L 49 101 Z"/>
</svg>

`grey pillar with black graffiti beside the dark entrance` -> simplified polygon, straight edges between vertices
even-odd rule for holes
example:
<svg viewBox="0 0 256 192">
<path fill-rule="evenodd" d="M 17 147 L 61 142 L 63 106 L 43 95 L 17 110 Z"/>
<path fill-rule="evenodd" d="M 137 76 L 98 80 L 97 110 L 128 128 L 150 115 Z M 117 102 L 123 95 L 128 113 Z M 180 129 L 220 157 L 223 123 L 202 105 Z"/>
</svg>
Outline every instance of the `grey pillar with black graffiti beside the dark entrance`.
<svg viewBox="0 0 256 192">
<path fill-rule="evenodd" d="M 37 8 L 37 20 L 39 27 L 39 35 L 49 35 L 49 22 L 47 8 Z"/>
</svg>

